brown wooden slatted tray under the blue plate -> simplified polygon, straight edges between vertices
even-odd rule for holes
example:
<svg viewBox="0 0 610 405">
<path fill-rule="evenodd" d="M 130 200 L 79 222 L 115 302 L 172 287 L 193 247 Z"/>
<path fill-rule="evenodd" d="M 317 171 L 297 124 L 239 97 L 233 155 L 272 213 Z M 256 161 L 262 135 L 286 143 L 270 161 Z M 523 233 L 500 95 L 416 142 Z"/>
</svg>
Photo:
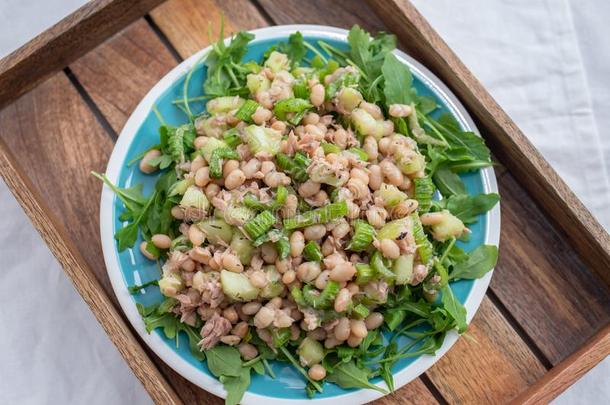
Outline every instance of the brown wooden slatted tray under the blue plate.
<svg viewBox="0 0 610 405">
<path fill-rule="evenodd" d="M 313 23 L 394 32 L 461 99 L 501 164 L 500 260 L 471 339 L 378 403 L 544 403 L 610 354 L 610 237 L 410 3 L 159 3 L 93 1 L 0 61 L 0 173 L 157 403 L 222 401 L 126 323 L 102 259 L 101 185 L 89 172 L 104 170 L 136 104 L 208 45 L 221 14 L 234 31 Z"/>
</svg>

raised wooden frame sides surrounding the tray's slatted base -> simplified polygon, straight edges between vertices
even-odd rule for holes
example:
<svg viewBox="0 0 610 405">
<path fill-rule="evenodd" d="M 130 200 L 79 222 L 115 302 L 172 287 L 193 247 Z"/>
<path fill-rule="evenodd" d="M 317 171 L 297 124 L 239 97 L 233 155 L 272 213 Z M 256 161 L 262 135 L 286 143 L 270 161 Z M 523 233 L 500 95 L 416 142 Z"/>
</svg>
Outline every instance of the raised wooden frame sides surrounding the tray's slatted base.
<svg viewBox="0 0 610 405">
<path fill-rule="evenodd" d="M 0 108 L 9 105 L 159 3 L 161 0 L 92 1 L 0 60 Z M 368 3 L 401 42 L 409 44 L 409 52 L 439 75 L 461 99 L 476 118 L 494 154 L 519 179 L 547 216 L 555 219 L 556 225 L 571 241 L 582 260 L 606 285 L 610 284 L 610 236 L 489 93 L 409 2 L 368 0 Z M 255 6 L 261 10 L 267 22 L 274 22 L 264 7 L 258 2 L 255 2 Z M 166 32 L 171 35 L 171 31 Z M 174 57 L 188 54 L 183 49 L 170 50 Z M 176 394 L 160 372 L 158 363 L 153 361 L 154 356 L 134 336 L 111 297 L 65 235 L 59 221 L 1 138 L 0 174 L 155 402 L 182 402 L 184 398 Z M 510 317 L 510 314 L 506 316 Z M 555 397 L 610 353 L 609 339 L 610 326 L 606 326 L 581 349 L 555 365 L 542 379 L 521 393 L 515 399 L 516 403 L 546 402 Z M 428 385 L 426 380 L 424 383 Z M 432 388 L 430 390 L 434 391 Z"/>
</svg>

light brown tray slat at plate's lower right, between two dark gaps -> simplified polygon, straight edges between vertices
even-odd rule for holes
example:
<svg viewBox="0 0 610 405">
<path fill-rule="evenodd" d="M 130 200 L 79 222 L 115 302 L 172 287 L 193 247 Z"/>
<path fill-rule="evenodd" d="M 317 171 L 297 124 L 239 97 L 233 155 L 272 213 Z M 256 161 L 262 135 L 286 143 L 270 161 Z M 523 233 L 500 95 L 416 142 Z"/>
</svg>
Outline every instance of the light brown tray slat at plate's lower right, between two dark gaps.
<svg viewBox="0 0 610 405">
<path fill-rule="evenodd" d="M 485 298 L 467 336 L 427 374 L 449 403 L 500 404 L 542 377 L 546 368 Z"/>
</svg>

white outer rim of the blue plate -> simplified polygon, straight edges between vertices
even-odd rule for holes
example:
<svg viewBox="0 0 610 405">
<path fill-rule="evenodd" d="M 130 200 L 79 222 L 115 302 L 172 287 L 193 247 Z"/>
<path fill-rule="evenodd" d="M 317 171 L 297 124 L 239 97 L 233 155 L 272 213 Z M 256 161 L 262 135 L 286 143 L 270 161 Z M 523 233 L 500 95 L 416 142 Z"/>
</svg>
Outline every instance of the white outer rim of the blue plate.
<svg viewBox="0 0 610 405">
<path fill-rule="evenodd" d="M 265 39 L 279 39 L 285 38 L 289 34 L 300 31 L 303 34 L 315 35 L 319 37 L 327 37 L 337 40 L 345 40 L 347 38 L 348 31 L 341 28 L 322 26 L 322 25 L 280 25 L 265 27 L 256 30 L 249 31 L 255 35 L 256 40 Z M 227 39 L 229 41 L 229 39 Z M 171 86 L 172 83 L 179 80 L 182 75 L 187 73 L 191 67 L 209 51 L 210 47 L 206 47 L 201 51 L 195 53 L 188 59 L 184 60 L 178 66 L 168 72 L 155 86 L 144 96 L 142 101 L 138 104 L 134 112 L 127 120 L 121 134 L 115 144 L 115 147 L 110 156 L 108 167 L 106 169 L 106 176 L 113 183 L 116 183 L 121 172 L 121 166 L 123 164 L 124 156 L 126 155 L 131 142 L 133 141 L 136 132 L 144 122 L 146 116 L 149 114 L 156 99 L 163 94 L 163 92 Z M 417 62 L 411 56 L 406 53 L 395 50 L 394 54 L 404 63 L 406 63 L 411 69 L 412 73 L 418 76 L 419 79 L 424 81 L 428 86 L 433 88 L 442 98 L 448 101 L 448 107 L 452 110 L 451 112 L 459 117 L 462 123 L 466 124 L 468 130 L 479 134 L 479 131 L 474 124 L 474 121 L 466 112 L 464 106 L 460 103 L 457 97 L 442 83 L 432 72 L 426 67 Z M 482 181 L 484 190 L 487 193 L 497 193 L 498 186 L 496 177 L 492 167 L 488 167 L 481 170 Z M 175 353 L 166 342 L 164 342 L 160 336 L 155 333 L 148 334 L 144 327 L 144 322 L 135 305 L 135 301 L 132 299 L 131 294 L 127 290 L 127 286 L 123 280 L 121 274 L 120 264 L 118 259 L 118 252 L 115 248 L 114 232 L 113 232 L 113 204 L 114 194 L 109 187 L 104 186 L 101 195 L 100 204 L 100 234 L 102 241 L 102 250 L 104 254 L 104 261 L 108 271 L 108 276 L 114 293 L 123 309 L 127 319 L 134 327 L 138 335 L 144 340 L 144 342 L 172 369 L 177 373 L 185 377 L 193 384 L 201 387 L 202 389 L 225 398 L 226 391 L 222 384 L 215 378 L 206 375 L 199 369 L 189 364 L 186 360 L 182 359 Z M 488 212 L 487 224 L 485 228 L 485 243 L 498 246 L 500 242 L 500 204 Z M 464 303 L 464 307 L 467 311 L 467 321 L 470 323 L 474 317 L 477 309 L 479 308 L 485 292 L 489 286 L 493 271 L 487 273 L 483 278 L 475 280 L 472 290 L 468 295 Z M 439 348 L 434 356 L 424 355 L 419 357 L 413 363 L 405 367 L 403 370 L 394 374 L 394 382 L 396 389 L 399 389 L 403 385 L 409 383 L 415 378 L 419 377 L 428 368 L 430 368 L 436 361 L 438 361 L 457 341 L 458 334 L 450 332 L 447 334 L 443 345 Z M 379 386 L 384 386 L 383 382 L 378 383 Z M 329 397 L 329 398 L 314 398 L 314 399 L 289 399 L 289 398 L 275 398 L 268 397 L 265 395 L 259 395 L 251 392 L 246 392 L 242 399 L 243 404 L 255 404 L 262 403 L 263 401 L 268 405 L 305 405 L 315 402 L 320 405 L 336 405 L 341 403 L 350 404 L 361 404 L 366 403 L 383 396 L 382 393 L 374 390 L 356 390 L 348 392 L 346 394 Z"/>
</svg>

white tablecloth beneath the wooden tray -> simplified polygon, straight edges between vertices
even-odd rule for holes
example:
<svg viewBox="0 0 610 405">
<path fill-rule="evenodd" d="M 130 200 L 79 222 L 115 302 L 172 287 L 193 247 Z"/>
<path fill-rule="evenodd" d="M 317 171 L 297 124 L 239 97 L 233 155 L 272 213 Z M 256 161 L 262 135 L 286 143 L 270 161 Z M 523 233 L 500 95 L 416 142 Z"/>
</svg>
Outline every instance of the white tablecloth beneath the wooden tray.
<svg viewBox="0 0 610 405">
<path fill-rule="evenodd" d="M 610 3 L 414 2 L 609 229 Z M 0 57 L 81 3 L 1 1 Z M 1 182 L 0 206 L 0 403 L 150 403 Z M 606 360 L 557 403 L 610 401 L 609 375 Z"/>
</svg>

